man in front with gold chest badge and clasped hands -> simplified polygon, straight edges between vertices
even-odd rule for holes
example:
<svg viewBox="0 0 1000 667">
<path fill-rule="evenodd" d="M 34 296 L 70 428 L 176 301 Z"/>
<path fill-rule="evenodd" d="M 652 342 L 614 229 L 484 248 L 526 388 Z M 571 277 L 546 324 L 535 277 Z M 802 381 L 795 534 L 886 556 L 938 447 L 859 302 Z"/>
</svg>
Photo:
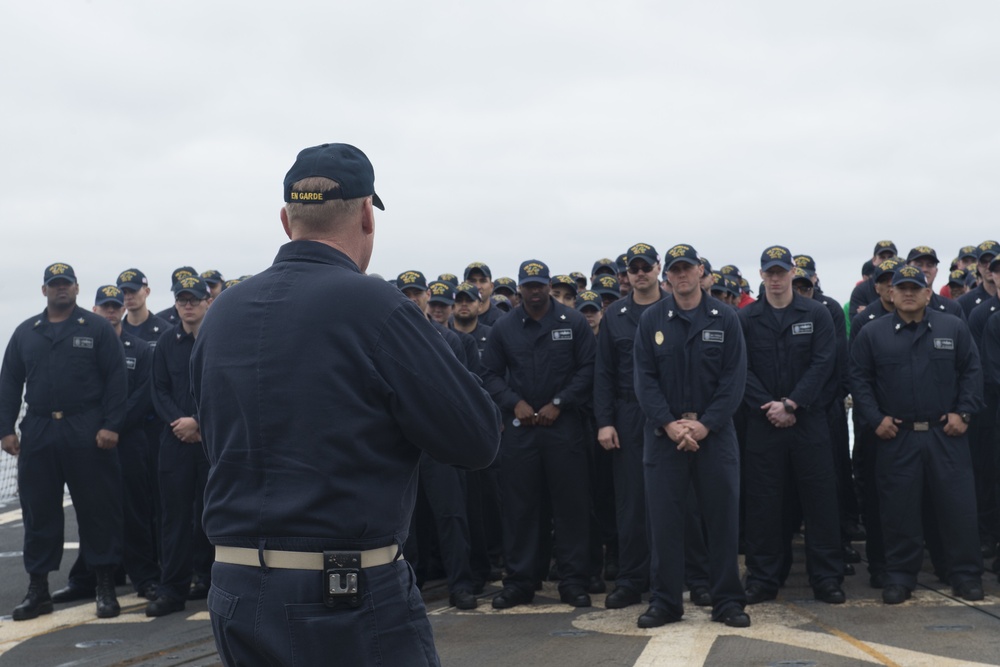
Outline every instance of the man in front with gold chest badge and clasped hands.
<svg viewBox="0 0 1000 667">
<path fill-rule="evenodd" d="M 732 309 L 701 287 L 704 267 L 687 245 L 667 251 L 674 291 L 639 320 L 635 392 L 646 414 L 644 470 L 650 529 L 651 597 L 641 628 L 679 621 L 688 494 L 707 532 L 712 620 L 745 628 L 740 584 L 740 455 L 733 414 L 743 400 L 746 349 Z"/>
</svg>

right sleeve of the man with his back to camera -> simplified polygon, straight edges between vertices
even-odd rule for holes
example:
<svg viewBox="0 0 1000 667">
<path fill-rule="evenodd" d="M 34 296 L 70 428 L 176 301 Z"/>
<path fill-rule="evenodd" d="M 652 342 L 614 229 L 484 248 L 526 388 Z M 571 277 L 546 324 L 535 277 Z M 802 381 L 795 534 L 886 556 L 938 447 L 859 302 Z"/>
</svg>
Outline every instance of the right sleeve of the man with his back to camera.
<svg viewBox="0 0 1000 667">
<path fill-rule="evenodd" d="M 440 463 L 476 470 L 493 462 L 500 412 L 417 309 L 393 311 L 372 361 L 407 440 Z"/>
</svg>

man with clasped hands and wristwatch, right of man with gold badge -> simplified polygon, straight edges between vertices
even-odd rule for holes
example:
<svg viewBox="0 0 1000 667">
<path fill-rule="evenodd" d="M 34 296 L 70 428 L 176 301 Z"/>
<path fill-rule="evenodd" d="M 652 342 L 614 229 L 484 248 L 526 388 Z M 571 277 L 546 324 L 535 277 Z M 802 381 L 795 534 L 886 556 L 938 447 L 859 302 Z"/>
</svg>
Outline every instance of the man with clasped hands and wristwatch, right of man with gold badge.
<svg viewBox="0 0 1000 667">
<path fill-rule="evenodd" d="M 837 490 L 826 419 L 836 336 L 821 304 L 792 289 L 792 255 L 761 255 L 761 299 L 739 312 L 747 346 L 745 402 L 747 602 L 773 600 L 783 583 L 785 484 L 806 524 L 806 569 L 816 599 L 844 602 Z"/>
</svg>

